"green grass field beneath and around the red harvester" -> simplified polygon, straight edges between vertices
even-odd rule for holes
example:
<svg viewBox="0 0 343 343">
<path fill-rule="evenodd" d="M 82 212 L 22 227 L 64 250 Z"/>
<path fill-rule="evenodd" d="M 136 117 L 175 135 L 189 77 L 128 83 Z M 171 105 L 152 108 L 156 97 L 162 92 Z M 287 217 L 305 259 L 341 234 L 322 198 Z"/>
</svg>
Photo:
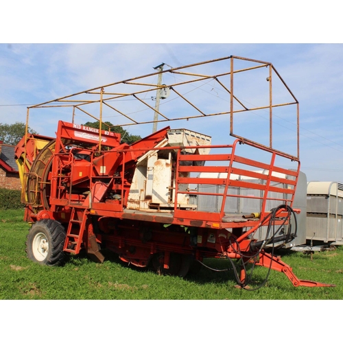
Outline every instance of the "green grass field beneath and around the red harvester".
<svg viewBox="0 0 343 343">
<path fill-rule="evenodd" d="M 85 255 L 70 256 L 60 267 L 38 265 L 25 253 L 29 224 L 23 210 L 0 211 L 0 299 L 342 299 L 343 248 L 309 255 L 284 251 L 282 260 L 298 279 L 334 283 L 336 287 L 293 287 L 287 277 L 272 270 L 265 286 L 248 292 L 235 288 L 233 270 L 215 272 L 202 268 L 195 276 L 180 279 L 160 276 L 150 270 L 130 268 L 112 252 L 105 251 L 104 263 Z M 206 259 L 211 268 L 230 268 L 226 260 Z M 254 279 L 263 281 L 267 268 L 256 267 Z"/>
</svg>

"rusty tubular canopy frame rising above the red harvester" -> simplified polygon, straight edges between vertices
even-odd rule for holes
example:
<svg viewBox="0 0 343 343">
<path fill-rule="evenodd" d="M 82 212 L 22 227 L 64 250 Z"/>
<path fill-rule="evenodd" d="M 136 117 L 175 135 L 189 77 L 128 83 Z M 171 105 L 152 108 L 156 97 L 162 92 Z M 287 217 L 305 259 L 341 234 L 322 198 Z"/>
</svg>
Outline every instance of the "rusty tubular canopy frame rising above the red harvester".
<svg viewBox="0 0 343 343">
<path fill-rule="evenodd" d="M 226 63 L 227 62 L 227 63 Z M 218 65 L 220 63 L 220 66 Z M 237 68 L 236 65 L 239 64 L 241 66 L 242 63 L 252 64 L 248 67 Z M 210 74 L 203 74 L 198 73 L 198 70 L 201 69 L 202 66 L 208 67 L 206 70 L 210 71 L 217 71 L 216 73 Z M 219 70 L 223 68 L 224 71 Z M 220 68 L 219 68 L 220 67 Z M 234 85 L 236 75 L 241 75 L 242 73 L 248 73 L 250 71 L 254 71 L 256 69 L 261 68 L 268 68 L 269 75 L 266 78 L 267 82 L 269 83 L 269 99 L 268 103 L 265 106 L 252 106 L 249 107 L 244 105 L 243 99 L 239 99 L 238 95 L 235 95 L 234 92 Z M 159 74 L 170 75 L 171 80 L 174 82 L 169 82 L 168 84 L 158 84 L 155 82 L 156 76 Z M 275 102 L 274 98 L 272 97 L 273 94 L 273 83 L 272 78 L 274 81 L 279 79 L 279 82 L 285 88 L 285 91 L 290 95 L 291 102 Z M 201 108 L 198 104 L 194 104 L 194 99 L 191 98 L 191 91 L 186 91 L 187 88 L 185 87 L 193 87 L 192 89 L 200 88 L 204 82 L 213 82 L 215 87 L 218 87 L 220 91 L 224 92 L 224 97 L 226 97 L 226 101 L 229 103 L 229 106 L 224 108 L 220 111 L 210 112 L 206 108 Z M 171 110 L 170 108 L 166 108 L 165 111 L 158 110 L 158 119 L 152 120 L 153 118 L 156 119 L 153 115 L 147 117 L 146 115 L 139 115 L 137 117 L 137 113 L 128 112 L 125 113 L 124 110 L 119 109 L 117 106 L 118 102 L 123 102 L 127 100 L 136 100 L 140 104 L 145 106 L 145 109 L 152 110 L 152 113 L 155 113 L 156 109 L 153 106 L 147 104 L 147 97 L 150 95 L 155 95 L 158 89 L 169 89 L 171 95 L 176 95 L 178 99 L 181 99 L 189 108 L 193 111 L 192 115 L 182 115 L 183 113 L 175 113 L 175 110 Z M 122 90 L 128 90 L 123 92 Z M 189 89 L 189 88 L 188 88 Z M 226 94 L 226 95 L 225 95 Z M 117 103 L 116 103 L 117 102 Z M 115 103 L 115 105 L 113 105 Z M 97 115 L 91 113 L 92 105 L 97 105 Z M 171 122 L 181 119 L 195 119 L 200 117 L 213 117 L 219 115 L 230 115 L 230 135 L 239 139 L 243 139 L 244 141 L 250 141 L 251 143 L 255 143 L 262 146 L 267 146 L 273 148 L 273 109 L 276 107 L 281 106 L 290 106 L 296 105 L 296 139 L 297 139 L 297 147 L 296 147 L 296 156 L 286 154 L 287 156 L 291 156 L 294 160 L 298 161 L 299 159 L 299 106 L 298 100 L 290 91 L 289 87 L 285 83 L 285 81 L 281 78 L 279 73 L 276 71 L 272 63 L 270 62 L 263 62 L 260 60 L 252 60 L 250 58 L 242 58 L 238 56 L 227 56 L 224 58 L 218 58 L 215 60 L 208 60 L 205 62 L 198 62 L 195 64 L 188 64 L 182 67 L 175 67 L 165 69 L 163 71 L 157 71 L 155 73 L 150 73 L 142 76 L 138 76 L 136 78 L 130 78 L 127 80 L 114 82 L 112 84 L 106 84 L 104 86 L 99 86 L 95 88 L 88 89 L 86 91 L 81 91 L 78 93 L 73 93 L 71 95 L 67 95 L 64 97 L 59 97 L 57 99 L 50 100 L 48 102 L 43 102 L 41 104 L 36 104 L 34 106 L 27 107 L 27 122 L 29 119 L 29 111 L 34 110 L 36 108 L 54 108 L 54 107 L 69 107 L 72 108 L 72 118 L 74 122 L 75 111 L 78 110 L 80 113 L 86 114 L 91 118 L 99 121 L 100 123 L 100 130 L 104 130 L 103 123 L 103 113 L 104 108 L 107 110 L 113 111 L 115 115 L 119 115 L 122 118 L 127 119 L 126 122 L 116 124 L 115 126 L 132 126 L 138 124 L 147 124 L 147 123 L 162 123 L 162 122 Z M 88 110 L 89 108 L 89 110 Z M 239 136 L 234 131 L 234 119 L 235 114 L 237 113 L 244 113 L 254 110 L 269 110 L 269 145 L 263 145 L 257 141 L 251 141 L 246 137 Z M 140 111 L 141 112 L 141 111 Z M 151 119 L 150 119 L 151 118 Z M 28 123 L 27 123 L 28 126 Z M 114 126 L 113 126 L 114 127 Z M 106 130 L 111 130 L 113 127 L 106 127 Z M 101 137 L 99 139 L 99 145 L 101 146 Z"/>
</svg>

